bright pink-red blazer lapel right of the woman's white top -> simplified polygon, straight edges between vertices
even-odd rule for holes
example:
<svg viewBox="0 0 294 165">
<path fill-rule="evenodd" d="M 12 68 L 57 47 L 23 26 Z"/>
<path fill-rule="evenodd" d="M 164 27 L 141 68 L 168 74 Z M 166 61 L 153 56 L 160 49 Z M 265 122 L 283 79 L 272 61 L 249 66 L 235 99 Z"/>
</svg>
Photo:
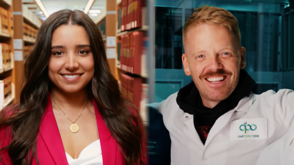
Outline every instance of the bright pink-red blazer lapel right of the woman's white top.
<svg viewBox="0 0 294 165">
<path fill-rule="evenodd" d="M 117 162 L 117 159 L 120 157 L 118 157 L 117 155 L 117 152 L 120 153 L 119 144 L 113 138 L 108 128 L 106 127 L 105 122 L 99 112 L 98 106 L 94 99 L 93 104 L 95 107 L 98 134 L 101 143 L 103 165 L 122 164 L 122 162 Z"/>
</svg>

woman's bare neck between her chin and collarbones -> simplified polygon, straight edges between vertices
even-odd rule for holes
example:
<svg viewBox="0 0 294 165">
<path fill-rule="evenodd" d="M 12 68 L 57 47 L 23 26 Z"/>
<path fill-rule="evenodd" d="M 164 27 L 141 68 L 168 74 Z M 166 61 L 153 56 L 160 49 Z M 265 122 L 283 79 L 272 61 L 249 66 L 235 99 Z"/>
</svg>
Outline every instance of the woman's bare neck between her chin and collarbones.
<svg viewBox="0 0 294 165">
<path fill-rule="evenodd" d="M 51 93 L 52 104 L 57 104 L 65 111 L 81 111 L 84 108 L 87 99 L 87 89 L 78 93 L 64 93 L 56 87 L 53 87 Z"/>
</svg>

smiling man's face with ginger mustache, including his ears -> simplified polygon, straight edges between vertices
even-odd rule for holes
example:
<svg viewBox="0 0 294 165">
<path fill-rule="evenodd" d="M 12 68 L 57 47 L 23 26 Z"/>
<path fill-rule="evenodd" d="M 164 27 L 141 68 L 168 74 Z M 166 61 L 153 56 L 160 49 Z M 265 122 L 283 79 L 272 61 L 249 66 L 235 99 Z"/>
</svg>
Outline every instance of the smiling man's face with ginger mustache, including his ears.
<svg viewBox="0 0 294 165">
<path fill-rule="evenodd" d="M 245 68 L 245 48 L 236 43 L 229 29 L 221 25 L 202 23 L 188 29 L 183 40 L 183 67 L 192 76 L 204 105 L 218 103 L 235 90 L 240 69 Z"/>
</svg>

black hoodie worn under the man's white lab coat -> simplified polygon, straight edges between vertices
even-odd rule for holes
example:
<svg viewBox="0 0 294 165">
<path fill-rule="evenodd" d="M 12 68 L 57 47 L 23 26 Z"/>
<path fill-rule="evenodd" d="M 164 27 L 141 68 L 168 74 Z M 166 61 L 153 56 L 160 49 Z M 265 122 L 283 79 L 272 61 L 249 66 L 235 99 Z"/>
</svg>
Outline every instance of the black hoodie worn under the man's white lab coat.
<svg viewBox="0 0 294 165">
<path fill-rule="evenodd" d="M 255 86 L 255 81 L 243 69 L 240 70 L 239 83 L 233 93 L 215 107 L 207 108 L 202 100 L 194 82 L 179 90 L 176 98 L 178 106 L 186 113 L 193 114 L 194 127 L 205 144 L 206 138 L 216 119 L 226 112 L 234 109 L 239 101 L 249 96 Z"/>
</svg>

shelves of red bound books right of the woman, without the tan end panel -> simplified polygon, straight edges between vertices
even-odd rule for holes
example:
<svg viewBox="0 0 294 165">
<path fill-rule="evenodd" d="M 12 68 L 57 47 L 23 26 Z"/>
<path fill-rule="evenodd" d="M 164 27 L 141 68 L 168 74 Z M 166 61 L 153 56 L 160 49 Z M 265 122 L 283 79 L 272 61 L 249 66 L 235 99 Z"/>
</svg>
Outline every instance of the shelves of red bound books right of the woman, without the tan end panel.
<svg viewBox="0 0 294 165">
<path fill-rule="evenodd" d="M 145 125 L 148 115 L 148 78 L 145 58 L 148 37 L 145 0 L 117 1 L 117 57 L 123 97 L 139 110 Z"/>
</svg>

